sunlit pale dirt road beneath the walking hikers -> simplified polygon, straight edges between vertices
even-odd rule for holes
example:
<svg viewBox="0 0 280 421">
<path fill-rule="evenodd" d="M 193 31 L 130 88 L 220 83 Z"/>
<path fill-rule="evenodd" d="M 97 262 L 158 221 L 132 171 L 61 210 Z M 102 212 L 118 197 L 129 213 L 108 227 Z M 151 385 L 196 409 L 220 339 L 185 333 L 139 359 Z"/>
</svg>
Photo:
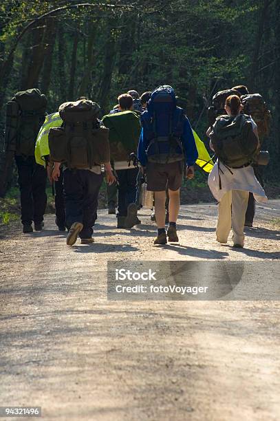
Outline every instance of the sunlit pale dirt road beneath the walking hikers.
<svg viewBox="0 0 280 421">
<path fill-rule="evenodd" d="M 4 230 L 0 406 L 50 421 L 279 420 L 279 302 L 107 301 L 109 259 L 279 259 L 279 201 L 257 209 L 244 250 L 215 243 L 216 212 L 184 206 L 177 246 L 151 246 L 147 210 L 131 231 L 100 211 L 91 246 L 67 248 L 53 215 L 42 233 Z"/>
</svg>

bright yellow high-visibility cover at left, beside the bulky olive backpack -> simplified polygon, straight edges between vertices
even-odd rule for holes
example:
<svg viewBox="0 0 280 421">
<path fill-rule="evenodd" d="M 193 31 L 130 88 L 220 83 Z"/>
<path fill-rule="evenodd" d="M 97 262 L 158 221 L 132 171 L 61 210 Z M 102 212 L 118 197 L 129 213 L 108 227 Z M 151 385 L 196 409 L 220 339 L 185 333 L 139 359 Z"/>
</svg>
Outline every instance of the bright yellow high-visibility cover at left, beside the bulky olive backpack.
<svg viewBox="0 0 280 421">
<path fill-rule="evenodd" d="M 45 156 L 50 155 L 49 149 L 49 133 L 52 127 L 61 127 L 63 120 L 59 113 L 49 114 L 46 116 L 43 126 L 41 127 L 35 144 L 35 160 L 37 164 L 45 166 Z"/>
</svg>

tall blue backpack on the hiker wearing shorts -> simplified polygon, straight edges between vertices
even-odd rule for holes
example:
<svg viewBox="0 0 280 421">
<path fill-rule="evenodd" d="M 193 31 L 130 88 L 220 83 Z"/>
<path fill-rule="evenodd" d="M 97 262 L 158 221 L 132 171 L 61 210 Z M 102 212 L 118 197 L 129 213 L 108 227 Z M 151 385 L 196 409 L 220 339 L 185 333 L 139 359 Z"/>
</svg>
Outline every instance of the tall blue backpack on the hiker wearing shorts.
<svg viewBox="0 0 280 421">
<path fill-rule="evenodd" d="M 184 159 L 181 142 L 184 120 L 184 111 L 176 105 L 173 88 L 164 85 L 155 89 L 147 104 L 147 111 L 141 116 L 149 162 L 169 164 Z"/>
</svg>

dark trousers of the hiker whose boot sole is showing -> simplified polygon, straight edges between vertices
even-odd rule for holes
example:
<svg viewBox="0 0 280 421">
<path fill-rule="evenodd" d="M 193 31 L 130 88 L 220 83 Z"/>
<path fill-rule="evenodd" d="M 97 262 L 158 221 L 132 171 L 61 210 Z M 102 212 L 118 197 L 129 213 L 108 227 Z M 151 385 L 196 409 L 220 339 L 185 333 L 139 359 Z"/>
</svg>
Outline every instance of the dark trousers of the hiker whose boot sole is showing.
<svg viewBox="0 0 280 421">
<path fill-rule="evenodd" d="M 83 169 L 65 169 L 63 189 L 65 199 L 66 226 L 81 222 L 80 238 L 90 238 L 96 220 L 98 193 L 103 175 Z"/>
</svg>

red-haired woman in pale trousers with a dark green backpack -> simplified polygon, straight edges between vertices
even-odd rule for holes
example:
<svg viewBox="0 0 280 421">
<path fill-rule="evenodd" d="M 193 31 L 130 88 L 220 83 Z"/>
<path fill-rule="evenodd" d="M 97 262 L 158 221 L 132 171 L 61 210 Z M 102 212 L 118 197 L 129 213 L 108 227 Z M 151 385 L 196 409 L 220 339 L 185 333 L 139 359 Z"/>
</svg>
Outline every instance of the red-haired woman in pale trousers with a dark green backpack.
<svg viewBox="0 0 280 421">
<path fill-rule="evenodd" d="M 208 185 L 219 202 L 217 241 L 226 243 L 233 229 L 233 247 L 244 247 L 244 223 L 251 191 L 259 202 L 267 197 L 250 165 L 259 151 L 257 125 L 250 116 L 240 114 L 239 96 L 226 98 L 226 116 L 219 116 L 209 127 L 211 149 L 218 159 L 208 176 Z"/>
</svg>

